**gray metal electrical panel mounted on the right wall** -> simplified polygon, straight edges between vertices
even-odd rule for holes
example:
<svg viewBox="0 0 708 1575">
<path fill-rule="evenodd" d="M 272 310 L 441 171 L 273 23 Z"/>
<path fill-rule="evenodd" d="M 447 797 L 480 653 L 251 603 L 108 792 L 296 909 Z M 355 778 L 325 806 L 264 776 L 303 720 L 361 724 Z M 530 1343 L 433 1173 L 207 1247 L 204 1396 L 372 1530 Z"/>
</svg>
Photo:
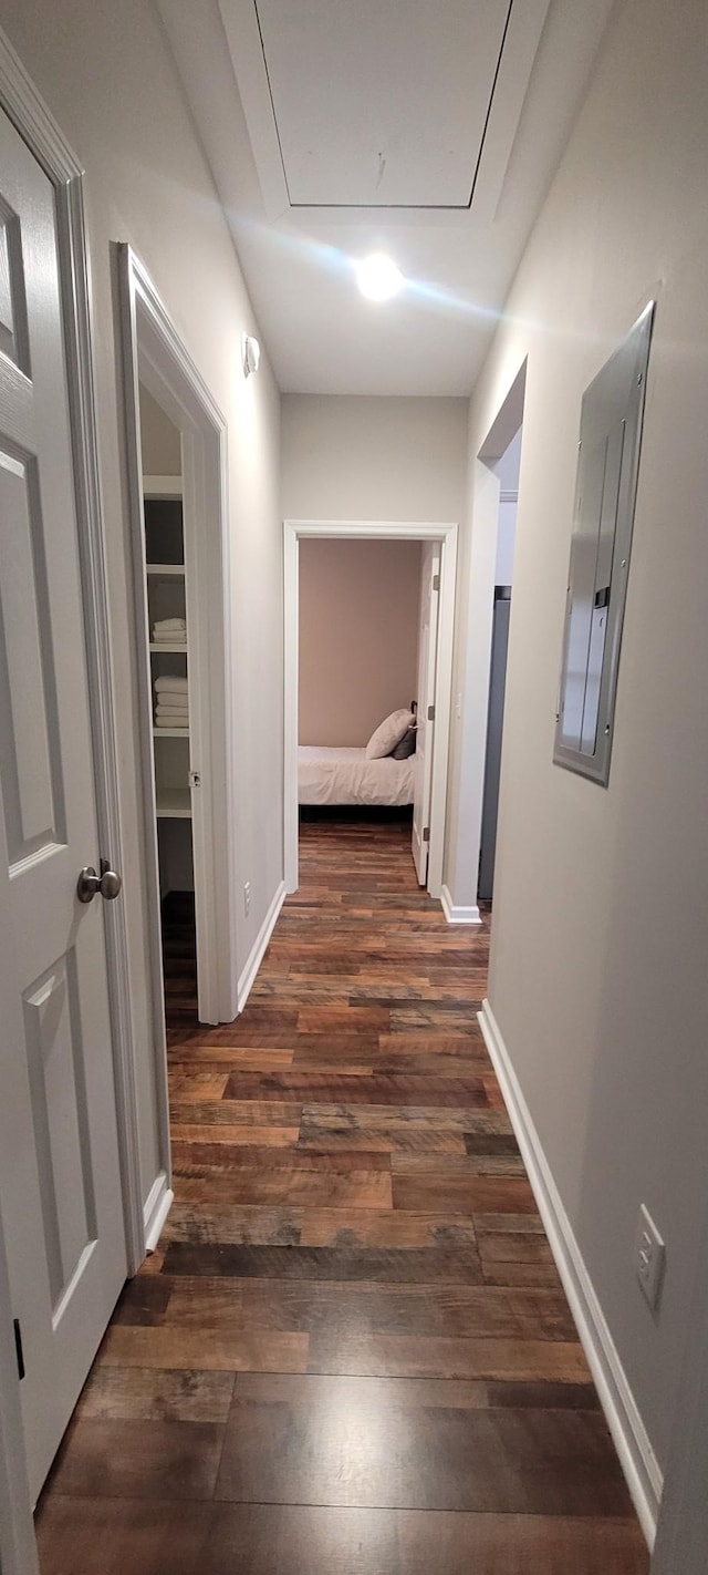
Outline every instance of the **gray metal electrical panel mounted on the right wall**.
<svg viewBox="0 0 708 1575">
<path fill-rule="evenodd" d="M 607 786 L 637 493 L 650 302 L 582 397 L 554 761 Z"/>
</svg>

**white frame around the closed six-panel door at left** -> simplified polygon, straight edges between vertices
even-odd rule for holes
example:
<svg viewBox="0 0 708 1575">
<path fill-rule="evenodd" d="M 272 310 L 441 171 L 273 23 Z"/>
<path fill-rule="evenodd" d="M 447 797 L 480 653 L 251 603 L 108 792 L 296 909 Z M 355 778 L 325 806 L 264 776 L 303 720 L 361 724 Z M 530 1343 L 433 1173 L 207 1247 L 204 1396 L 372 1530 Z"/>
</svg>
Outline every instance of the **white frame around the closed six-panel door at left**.
<svg viewBox="0 0 708 1575">
<path fill-rule="evenodd" d="M 123 868 L 118 795 L 118 734 L 112 685 L 104 517 L 94 417 L 83 172 L 38 94 L 9 39 L 0 30 L 0 109 L 49 176 L 57 194 L 60 287 L 69 375 L 69 413 L 77 501 L 79 551 L 94 745 L 96 810 L 102 854 Z M 132 1269 L 143 1257 L 135 1062 L 123 902 L 105 906 L 118 1139 L 123 1172 L 126 1254 Z M 0 1219 L 0 1566 L 3 1575 L 36 1575 L 36 1542 L 27 1484 L 13 1312 Z"/>
</svg>

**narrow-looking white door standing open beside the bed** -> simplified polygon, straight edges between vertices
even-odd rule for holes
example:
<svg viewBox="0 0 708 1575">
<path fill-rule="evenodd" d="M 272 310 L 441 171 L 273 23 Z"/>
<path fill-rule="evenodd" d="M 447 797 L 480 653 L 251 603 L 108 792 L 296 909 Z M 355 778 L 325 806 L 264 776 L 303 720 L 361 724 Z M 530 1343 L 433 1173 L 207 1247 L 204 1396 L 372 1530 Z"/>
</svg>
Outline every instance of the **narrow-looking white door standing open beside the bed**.
<svg viewBox="0 0 708 1575">
<path fill-rule="evenodd" d="M 434 695 L 437 668 L 437 605 L 441 550 L 423 547 L 419 621 L 419 732 L 415 739 L 412 855 L 420 885 L 428 880 L 430 799 L 433 783 Z"/>
</svg>

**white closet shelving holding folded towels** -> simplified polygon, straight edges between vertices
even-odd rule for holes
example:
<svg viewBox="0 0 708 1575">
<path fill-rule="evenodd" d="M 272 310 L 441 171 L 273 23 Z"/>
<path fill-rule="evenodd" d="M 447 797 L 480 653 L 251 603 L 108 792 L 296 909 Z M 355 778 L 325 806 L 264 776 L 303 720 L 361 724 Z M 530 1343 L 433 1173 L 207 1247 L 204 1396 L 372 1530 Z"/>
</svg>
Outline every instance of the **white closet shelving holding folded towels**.
<svg viewBox="0 0 708 1575">
<path fill-rule="evenodd" d="M 149 632 L 165 617 L 186 617 L 183 482 L 179 476 L 143 476 Z M 189 632 L 187 632 L 189 633 Z M 187 676 L 189 639 L 149 639 L 151 701 L 156 677 Z M 189 724 L 153 721 L 156 810 L 159 821 L 189 821 Z"/>
</svg>

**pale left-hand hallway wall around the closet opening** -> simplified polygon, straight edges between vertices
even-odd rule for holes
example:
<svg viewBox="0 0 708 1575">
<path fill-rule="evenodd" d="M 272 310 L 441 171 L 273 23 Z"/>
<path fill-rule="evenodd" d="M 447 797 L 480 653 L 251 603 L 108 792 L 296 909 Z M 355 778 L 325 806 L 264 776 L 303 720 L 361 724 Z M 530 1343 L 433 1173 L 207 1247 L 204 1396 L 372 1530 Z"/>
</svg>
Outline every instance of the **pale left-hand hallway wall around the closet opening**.
<svg viewBox="0 0 708 1575">
<path fill-rule="evenodd" d="M 241 375 L 253 321 L 231 239 L 149 0 L 2 0 L 0 24 L 82 159 L 87 178 L 101 477 L 121 739 L 123 891 L 131 999 L 140 1046 L 143 1189 L 156 1172 L 156 1110 L 142 907 L 135 666 L 126 523 L 120 353 L 112 243 L 149 269 L 187 350 L 230 424 L 231 606 L 238 739 L 236 850 L 252 882 L 238 917 L 236 970 L 247 961 L 282 879 L 282 542 L 278 392 L 267 354 Z M 244 764 L 247 762 L 247 764 Z"/>
</svg>

